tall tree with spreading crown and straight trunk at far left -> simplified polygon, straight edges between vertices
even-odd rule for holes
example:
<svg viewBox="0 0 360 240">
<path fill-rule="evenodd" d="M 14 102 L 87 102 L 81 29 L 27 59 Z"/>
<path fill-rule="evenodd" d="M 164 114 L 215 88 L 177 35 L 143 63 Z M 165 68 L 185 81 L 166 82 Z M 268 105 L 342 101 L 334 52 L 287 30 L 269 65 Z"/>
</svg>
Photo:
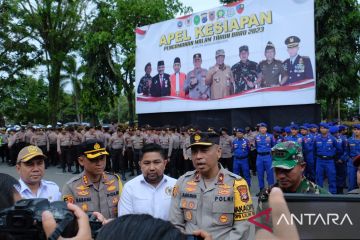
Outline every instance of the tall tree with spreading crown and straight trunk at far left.
<svg viewBox="0 0 360 240">
<path fill-rule="evenodd" d="M 49 114 L 52 124 L 59 109 L 61 69 L 66 56 L 77 49 L 84 25 L 85 0 L 8 0 L 17 21 L 26 29 L 27 41 L 45 52 L 48 69 Z"/>
</svg>

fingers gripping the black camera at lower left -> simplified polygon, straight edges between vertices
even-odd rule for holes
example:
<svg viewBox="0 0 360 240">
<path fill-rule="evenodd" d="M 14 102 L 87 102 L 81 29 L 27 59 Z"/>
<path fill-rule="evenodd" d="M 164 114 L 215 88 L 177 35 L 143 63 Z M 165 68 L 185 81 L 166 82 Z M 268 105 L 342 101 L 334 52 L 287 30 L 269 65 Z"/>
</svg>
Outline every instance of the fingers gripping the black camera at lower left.
<svg viewBox="0 0 360 240">
<path fill-rule="evenodd" d="M 90 229 L 90 225 L 89 225 L 89 218 L 86 215 L 85 212 L 83 212 L 83 210 L 81 210 L 81 208 L 79 208 L 78 206 L 76 206 L 75 204 L 72 203 L 68 203 L 67 207 L 69 210 L 71 210 L 78 222 L 78 226 L 79 226 L 79 230 L 76 234 L 76 236 L 72 237 L 72 238 L 63 238 L 63 237 L 59 237 L 59 240 L 62 239 L 73 239 L 73 240 L 90 240 L 91 239 L 91 229 Z M 55 231 L 56 229 L 56 221 L 53 217 L 53 215 L 51 214 L 51 212 L 49 211 L 44 211 L 42 213 L 42 225 L 43 225 L 43 229 L 46 235 L 46 238 L 49 238 L 51 236 L 51 234 Z"/>
</svg>

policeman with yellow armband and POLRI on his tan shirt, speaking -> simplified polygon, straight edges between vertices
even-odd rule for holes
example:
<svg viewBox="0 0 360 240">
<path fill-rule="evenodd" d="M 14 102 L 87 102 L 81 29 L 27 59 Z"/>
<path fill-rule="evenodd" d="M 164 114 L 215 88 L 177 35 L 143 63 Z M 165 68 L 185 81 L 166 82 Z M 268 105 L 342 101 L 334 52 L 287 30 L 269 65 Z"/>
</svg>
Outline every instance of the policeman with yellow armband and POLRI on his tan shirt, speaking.
<svg viewBox="0 0 360 240">
<path fill-rule="evenodd" d="M 245 179 L 224 169 L 219 136 L 195 133 L 191 136 L 195 171 L 179 178 L 173 189 L 170 221 L 192 233 L 203 229 L 213 239 L 248 239 L 254 207 Z"/>
</svg>

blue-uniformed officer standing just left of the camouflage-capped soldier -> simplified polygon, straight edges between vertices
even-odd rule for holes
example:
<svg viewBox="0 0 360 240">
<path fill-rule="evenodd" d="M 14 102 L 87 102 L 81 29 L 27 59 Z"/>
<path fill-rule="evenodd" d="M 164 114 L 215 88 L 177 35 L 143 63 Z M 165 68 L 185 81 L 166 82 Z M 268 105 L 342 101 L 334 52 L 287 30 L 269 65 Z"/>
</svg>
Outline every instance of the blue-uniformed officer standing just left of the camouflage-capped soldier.
<svg viewBox="0 0 360 240">
<path fill-rule="evenodd" d="M 257 158 L 256 158 L 256 169 L 257 176 L 259 181 L 260 192 L 265 187 L 264 183 L 264 173 L 266 171 L 267 183 L 269 186 L 273 185 L 274 180 L 274 172 L 272 170 L 272 158 L 271 158 L 271 148 L 275 145 L 274 136 L 270 133 L 267 133 L 267 124 L 260 123 L 259 124 L 259 134 L 255 138 L 255 147 L 257 150 Z M 257 194 L 257 196 L 260 194 Z"/>
</svg>

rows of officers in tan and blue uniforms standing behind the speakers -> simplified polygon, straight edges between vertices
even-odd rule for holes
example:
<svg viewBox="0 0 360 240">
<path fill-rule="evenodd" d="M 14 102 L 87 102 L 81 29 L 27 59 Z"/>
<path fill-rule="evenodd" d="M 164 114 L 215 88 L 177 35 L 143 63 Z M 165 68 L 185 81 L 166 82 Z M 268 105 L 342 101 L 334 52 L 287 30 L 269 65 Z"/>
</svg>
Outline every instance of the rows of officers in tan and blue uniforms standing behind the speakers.
<svg viewBox="0 0 360 240">
<path fill-rule="evenodd" d="M 266 173 L 268 185 L 274 184 L 271 169 L 271 148 L 280 142 L 294 141 L 302 147 L 307 163 L 305 176 L 319 186 L 328 179 L 329 192 L 343 193 L 356 188 L 356 168 L 351 159 L 360 154 L 360 125 L 347 126 L 328 123 L 291 124 L 287 127 L 275 126 L 270 133 L 267 124 L 259 123 L 255 128 L 246 127 L 228 130 L 221 128 L 207 131 L 220 133 L 222 149 L 220 163 L 235 174 L 243 176 L 251 186 L 251 174 L 258 175 L 259 189 L 264 189 Z M 126 180 L 125 172 L 131 176 L 141 174 L 139 159 L 145 144 L 157 143 L 168 157 L 165 173 L 178 178 L 193 170 L 191 161 L 190 136 L 200 130 L 196 127 L 142 128 L 131 127 L 58 127 L 1 129 L 0 157 L 10 165 L 16 164 L 16 156 L 27 145 L 38 146 L 48 156 L 46 167 L 60 165 L 63 172 L 80 172 L 78 164 L 79 145 L 87 140 L 104 142 L 110 153 L 106 170 L 120 173 Z M 346 182 L 348 179 L 348 182 Z"/>
</svg>

